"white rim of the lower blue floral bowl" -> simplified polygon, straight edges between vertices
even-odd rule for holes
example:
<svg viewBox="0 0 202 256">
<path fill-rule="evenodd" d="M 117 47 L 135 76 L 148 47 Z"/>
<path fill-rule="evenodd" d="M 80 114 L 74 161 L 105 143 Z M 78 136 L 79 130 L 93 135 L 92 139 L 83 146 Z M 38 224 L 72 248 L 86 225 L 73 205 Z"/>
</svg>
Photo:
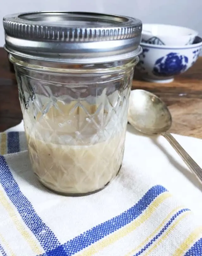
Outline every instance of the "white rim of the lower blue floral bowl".
<svg viewBox="0 0 202 256">
<path fill-rule="evenodd" d="M 143 47 L 149 47 L 149 48 L 156 48 L 156 49 L 164 49 L 164 50 L 169 50 L 169 49 L 193 49 L 197 48 L 199 46 L 202 46 L 202 38 L 200 36 L 196 36 L 195 40 L 198 40 L 198 43 L 194 44 L 189 44 L 189 45 L 157 45 L 157 44 L 147 44 L 147 43 L 142 43 L 140 42 L 140 46 Z"/>
</svg>

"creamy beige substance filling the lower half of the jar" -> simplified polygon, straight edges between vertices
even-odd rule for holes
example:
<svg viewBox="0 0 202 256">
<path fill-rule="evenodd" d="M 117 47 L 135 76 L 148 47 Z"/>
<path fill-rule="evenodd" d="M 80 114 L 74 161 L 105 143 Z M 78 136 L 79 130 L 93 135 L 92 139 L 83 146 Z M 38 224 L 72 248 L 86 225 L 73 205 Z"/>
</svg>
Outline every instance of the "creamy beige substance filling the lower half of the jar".
<svg viewBox="0 0 202 256">
<path fill-rule="evenodd" d="M 24 113 L 33 171 L 48 188 L 66 194 L 85 194 L 104 188 L 122 163 L 125 129 L 114 115 L 96 112 L 82 103 L 51 107 L 31 121 Z M 116 116 L 115 116 L 116 117 Z"/>
</svg>

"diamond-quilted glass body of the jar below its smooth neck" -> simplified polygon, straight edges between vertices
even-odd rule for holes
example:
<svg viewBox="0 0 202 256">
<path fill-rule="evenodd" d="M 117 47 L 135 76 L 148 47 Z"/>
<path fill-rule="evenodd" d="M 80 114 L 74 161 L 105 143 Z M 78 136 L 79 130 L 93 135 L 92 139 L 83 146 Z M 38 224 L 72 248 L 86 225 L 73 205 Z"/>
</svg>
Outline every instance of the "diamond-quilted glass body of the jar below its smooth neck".
<svg viewBox="0 0 202 256">
<path fill-rule="evenodd" d="M 132 76 L 131 68 L 108 75 L 107 81 L 81 84 L 69 77 L 66 83 L 60 77 L 51 82 L 51 75 L 49 81 L 29 77 L 27 82 L 21 75 L 30 159 L 45 186 L 83 194 L 103 188 L 116 176 L 124 152 Z"/>
</svg>

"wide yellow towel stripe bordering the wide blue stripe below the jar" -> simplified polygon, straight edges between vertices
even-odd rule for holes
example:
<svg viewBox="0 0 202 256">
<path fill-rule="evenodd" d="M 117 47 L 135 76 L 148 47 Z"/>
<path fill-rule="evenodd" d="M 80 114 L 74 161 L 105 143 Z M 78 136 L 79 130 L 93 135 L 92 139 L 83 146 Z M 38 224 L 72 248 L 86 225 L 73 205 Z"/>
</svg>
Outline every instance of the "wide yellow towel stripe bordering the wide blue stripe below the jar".
<svg viewBox="0 0 202 256">
<path fill-rule="evenodd" d="M 157 209 L 157 207 L 163 203 L 167 198 L 172 197 L 172 194 L 169 192 L 164 192 L 160 196 L 158 196 L 144 211 L 142 215 L 140 215 L 137 219 L 133 222 L 128 224 L 126 227 L 119 229 L 118 231 L 114 232 L 113 234 L 109 235 L 105 239 L 93 244 L 88 249 L 86 249 L 83 253 L 78 254 L 77 256 L 92 256 L 95 253 L 103 250 L 105 247 L 115 243 L 117 240 L 121 239 L 122 237 L 128 235 L 129 233 L 133 232 L 136 228 L 138 228 L 142 223 L 144 223 L 152 213 Z"/>
</svg>

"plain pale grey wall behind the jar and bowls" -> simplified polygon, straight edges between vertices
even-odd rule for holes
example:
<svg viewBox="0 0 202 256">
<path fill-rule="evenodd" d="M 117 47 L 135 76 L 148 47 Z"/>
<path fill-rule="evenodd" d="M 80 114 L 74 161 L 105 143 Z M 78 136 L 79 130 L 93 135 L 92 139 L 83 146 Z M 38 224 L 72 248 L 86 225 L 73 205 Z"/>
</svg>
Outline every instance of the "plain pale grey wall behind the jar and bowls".
<svg viewBox="0 0 202 256">
<path fill-rule="evenodd" d="M 0 47 L 4 44 L 2 18 L 34 10 L 95 11 L 136 17 L 145 23 L 193 28 L 202 36 L 202 0 L 0 0 Z"/>
</svg>

